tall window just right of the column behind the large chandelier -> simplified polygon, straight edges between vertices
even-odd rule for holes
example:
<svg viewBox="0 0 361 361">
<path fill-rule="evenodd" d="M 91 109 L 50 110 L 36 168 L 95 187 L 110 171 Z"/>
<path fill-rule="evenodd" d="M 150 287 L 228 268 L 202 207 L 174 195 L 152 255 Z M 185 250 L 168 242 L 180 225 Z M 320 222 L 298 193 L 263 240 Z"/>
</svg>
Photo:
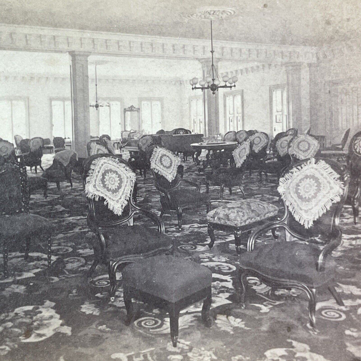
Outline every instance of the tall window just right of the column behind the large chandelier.
<svg viewBox="0 0 361 361">
<path fill-rule="evenodd" d="M 244 128 L 243 90 L 225 93 L 226 131 L 239 131 Z"/>
</svg>

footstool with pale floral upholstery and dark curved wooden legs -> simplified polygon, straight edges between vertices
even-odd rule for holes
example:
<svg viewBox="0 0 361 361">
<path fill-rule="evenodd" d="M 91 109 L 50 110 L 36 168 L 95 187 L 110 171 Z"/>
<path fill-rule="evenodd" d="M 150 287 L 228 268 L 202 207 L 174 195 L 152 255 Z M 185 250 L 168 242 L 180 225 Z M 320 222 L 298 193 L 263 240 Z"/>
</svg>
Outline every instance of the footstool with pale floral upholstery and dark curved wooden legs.
<svg viewBox="0 0 361 361">
<path fill-rule="evenodd" d="M 210 237 L 209 248 L 215 242 L 214 230 L 231 231 L 234 233 L 236 251 L 240 253 L 240 245 L 243 235 L 248 239 L 252 229 L 263 221 L 275 218 L 278 208 L 270 203 L 258 199 L 244 199 L 222 205 L 207 213 L 208 235 Z M 274 229 L 273 236 L 276 238 Z"/>
</svg>

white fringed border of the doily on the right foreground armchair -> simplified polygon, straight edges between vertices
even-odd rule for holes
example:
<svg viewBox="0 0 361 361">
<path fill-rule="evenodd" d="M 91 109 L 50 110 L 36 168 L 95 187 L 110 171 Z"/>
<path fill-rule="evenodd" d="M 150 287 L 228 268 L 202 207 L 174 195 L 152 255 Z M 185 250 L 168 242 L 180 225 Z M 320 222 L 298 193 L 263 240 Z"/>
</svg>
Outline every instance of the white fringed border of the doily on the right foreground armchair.
<svg viewBox="0 0 361 361">
<path fill-rule="evenodd" d="M 343 194 L 344 191 L 344 184 L 339 180 L 339 175 L 331 168 L 331 166 L 323 160 L 319 160 L 317 164 L 315 162 L 316 162 L 315 158 L 310 158 L 310 160 L 306 164 L 293 168 L 284 177 L 279 179 L 279 186 L 277 188 L 279 194 L 284 200 L 284 203 L 286 203 L 288 209 L 292 213 L 292 216 L 296 219 L 297 222 L 303 225 L 306 229 L 312 227 L 313 221 L 316 221 L 316 219 L 321 217 L 322 214 L 325 214 L 327 210 L 331 208 L 332 204 L 339 202 L 341 200 L 341 195 Z M 335 182 L 335 186 L 339 187 L 339 192 L 331 196 L 329 199 L 325 199 L 324 203 L 322 205 L 320 204 L 319 209 L 317 209 L 317 213 L 313 214 L 312 217 L 306 219 L 291 203 L 291 200 L 287 194 L 286 186 L 288 181 L 292 179 L 293 175 L 299 173 L 302 169 L 304 169 L 308 165 L 317 165 L 320 169 L 322 169 L 332 179 L 332 181 Z"/>
</svg>

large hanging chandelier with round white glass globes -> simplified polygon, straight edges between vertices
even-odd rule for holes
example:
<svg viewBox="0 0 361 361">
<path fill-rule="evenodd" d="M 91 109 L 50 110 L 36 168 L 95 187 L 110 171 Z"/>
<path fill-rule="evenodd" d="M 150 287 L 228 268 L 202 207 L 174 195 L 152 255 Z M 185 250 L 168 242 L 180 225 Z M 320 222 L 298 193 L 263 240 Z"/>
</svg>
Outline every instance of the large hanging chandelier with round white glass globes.
<svg viewBox="0 0 361 361">
<path fill-rule="evenodd" d="M 201 89 L 202 91 L 205 89 L 210 89 L 213 94 L 218 91 L 218 88 L 233 88 L 236 86 L 236 82 L 238 81 L 238 78 L 236 76 L 229 78 L 227 75 L 223 75 L 222 81 L 225 83 L 224 85 L 221 84 L 221 79 L 219 78 L 218 72 L 216 70 L 216 67 L 213 64 L 213 34 L 212 34 L 212 20 L 210 21 L 210 44 L 212 50 L 210 51 L 212 53 L 212 65 L 209 69 L 208 75 L 205 77 L 205 79 L 201 79 L 199 81 L 200 87 L 197 87 L 196 84 L 198 84 L 198 78 L 193 78 L 189 81 L 189 83 L 192 86 L 192 90 L 195 89 Z M 229 85 L 227 85 L 227 83 Z"/>
</svg>

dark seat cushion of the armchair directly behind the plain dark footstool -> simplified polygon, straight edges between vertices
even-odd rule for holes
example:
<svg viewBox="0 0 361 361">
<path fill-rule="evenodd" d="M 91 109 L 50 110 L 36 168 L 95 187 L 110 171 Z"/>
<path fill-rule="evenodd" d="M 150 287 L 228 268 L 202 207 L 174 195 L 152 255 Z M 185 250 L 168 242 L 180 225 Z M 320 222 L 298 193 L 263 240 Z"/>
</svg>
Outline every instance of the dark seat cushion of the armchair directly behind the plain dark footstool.
<svg viewBox="0 0 361 361">
<path fill-rule="evenodd" d="M 106 244 L 109 244 L 104 252 L 106 261 L 118 260 L 125 255 L 140 255 L 172 245 L 169 236 L 140 225 L 107 229 L 102 234 Z"/>
</svg>

